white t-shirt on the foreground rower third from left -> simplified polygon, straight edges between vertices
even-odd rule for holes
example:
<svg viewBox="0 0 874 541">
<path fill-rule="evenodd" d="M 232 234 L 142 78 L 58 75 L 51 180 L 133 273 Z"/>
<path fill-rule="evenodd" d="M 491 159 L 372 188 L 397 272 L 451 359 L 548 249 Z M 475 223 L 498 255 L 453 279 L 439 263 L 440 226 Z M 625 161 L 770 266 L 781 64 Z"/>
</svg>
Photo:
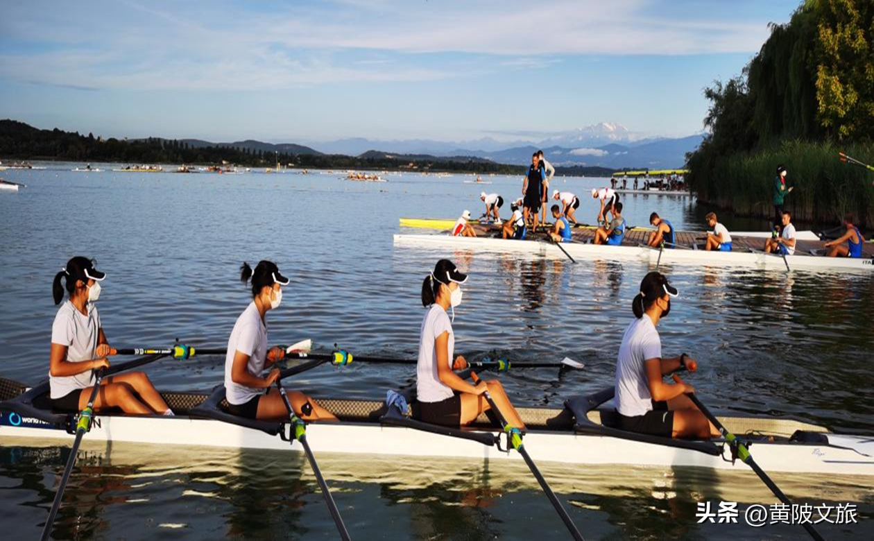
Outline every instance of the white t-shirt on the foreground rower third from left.
<svg viewBox="0 0 874 541">
<path fill-rule="evenodd" d="M 422 318 L 422 328 L 419 333 L 419 362 L 416 364 L 416 399 L 420 402 L 440 402 L 452 397 L 452 389 L 440 381 L 437 375 L 437 336 L 449 333 L 447 352 L 449 368 L 452 368 L 455 350 L 455 335 L 452 332 L 452 322 L 446 310 L 439 304 L 428 307 Z"/>
</svg>

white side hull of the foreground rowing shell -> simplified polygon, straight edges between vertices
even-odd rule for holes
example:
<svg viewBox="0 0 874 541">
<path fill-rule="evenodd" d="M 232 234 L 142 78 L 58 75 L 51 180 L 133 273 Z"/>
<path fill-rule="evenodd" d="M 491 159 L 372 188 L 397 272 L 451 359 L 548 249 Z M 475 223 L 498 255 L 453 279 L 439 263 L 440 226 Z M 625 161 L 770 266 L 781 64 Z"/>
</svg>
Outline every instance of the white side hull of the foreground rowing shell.
<svg viewBox="0 0 874 541">
<path fill-rule="evenodd" d="M 0 426 L 0 440 L 6 437 L 66 442 L 73 440 L 73 435 L 63 430 L 48 425 L 25 427 L 24 424 L 27 423 L 28 420 L 24 420 L 22 426 L 17 427 L 10 427 L 4 423 Z M 505 453 L 475 441 L 425 433 L 405 427 L 349 422 L 311 424 L 307 428 L 307 434 L 309 445 L 316 454 L 379 454 L 441 458 L 453 456 L 477 461 L 522 460 L 516 452 Z M 94 428 L 87 433 L 86 439 L 276 450 L 286 450 L 289 447 L 288 441 L 281 440 L 279 436 L 271 436 L 216 420 L 187 417 L 98 416 L 95 418 Z M 751 450 L 755 460 L 767 472 L 874 476 L 874 456 L 872 456 L 874 440 L 833 434 L 829 434 L 829 440 L 833 445 L 758 443 L 754 444 Z M 842 444 L 847 448 L 836 447 Z M 301 445 L 296 441 L 291 444 L 291 448 L 302 452 Z M 740 461 L 732 465 L 731 461 L 725 461 L 720 456 L 603 435 L 531 431 L 525 436 L 525 448 L 538 462 L 748 469 Z"/>
</svg>

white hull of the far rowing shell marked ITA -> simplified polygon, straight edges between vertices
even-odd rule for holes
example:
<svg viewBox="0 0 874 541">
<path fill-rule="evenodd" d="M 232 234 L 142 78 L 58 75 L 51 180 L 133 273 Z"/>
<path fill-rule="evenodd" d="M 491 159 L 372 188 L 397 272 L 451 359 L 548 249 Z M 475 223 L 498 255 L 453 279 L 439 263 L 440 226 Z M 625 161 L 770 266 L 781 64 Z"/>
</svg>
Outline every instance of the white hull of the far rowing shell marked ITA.
<svg viewBox="0 0 874 541">
<path fill-rule="evenodd" d="M 504 240 L 486 237 L 450 237 L 448 235 L 394 235 L 398 247 L 413 247 L 432 250 L 473 250 L 482 253 L 531 253 L 544 257 L 566 258 L 558 246 L 539 240 Z M 593 244 L 562 243 L 575 259 L 591 260 L 638 260 L 655 264 L 659 259 L 658 248 L 646 246 L 597 246 Z M 874 258 L 829 258 L 812 255 L 787 255 L 760 252 L 706 252 L 704 250 L 665 249 L 662 265 L 693 265 L 697 267 L 754 267 L 786 270 L 805 268 L 832 271 L 858 271 L 874 273 Z"/>
</svg>

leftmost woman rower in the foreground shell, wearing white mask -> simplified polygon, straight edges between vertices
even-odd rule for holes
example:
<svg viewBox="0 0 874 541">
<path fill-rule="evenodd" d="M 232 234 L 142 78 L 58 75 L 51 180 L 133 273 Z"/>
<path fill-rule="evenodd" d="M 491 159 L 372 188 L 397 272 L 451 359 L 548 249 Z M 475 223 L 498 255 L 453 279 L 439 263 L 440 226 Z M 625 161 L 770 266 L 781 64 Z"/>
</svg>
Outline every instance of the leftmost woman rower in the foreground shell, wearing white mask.
<svg viewBox="0 0 874 541">
<path fill-rule="evenodd" d="M 58 309 L 52 324 L 52 352 L 49 357 L 49 398 L 61 412 L 79 412 L 88 404 L 94 385 L 94 371 L 108 368 L 113 348 L 103 332 L 101 316 L 94 302 L 101 297 L 106 274 L 94 268 L 94 261 L 76 256 L 66 262 L 52 283 L 55 304 L 69 298 Z M 65 286 L 61 286 L 64 280 Z M 117 407 L 124 413 L 172 415 L 144 372 L 128 372 L 101 380 L 94 399 L 95 412 Z"/>
</svg>

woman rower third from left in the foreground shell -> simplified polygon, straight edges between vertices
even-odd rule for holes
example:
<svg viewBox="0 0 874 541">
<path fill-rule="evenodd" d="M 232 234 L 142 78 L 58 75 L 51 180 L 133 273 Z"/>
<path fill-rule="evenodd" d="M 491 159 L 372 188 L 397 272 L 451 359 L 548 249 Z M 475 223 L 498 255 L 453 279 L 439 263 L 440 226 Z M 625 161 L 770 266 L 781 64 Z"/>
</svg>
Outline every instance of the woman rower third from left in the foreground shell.
<svg viewBox="0 0 874 541">
<path fill-rule="evenodd" d="M 461 284 L 467 280 L 452 261 L 439 260 L 422 282 L 422 306 L 427 310 L 420 329 L 413 418 L 444 427 L 468 425 L 489 410 L 483 396 L 488 390 L 510 426 L 524 430 L 501 382 L 480 380 L 473 385 L 454 372 L 467 368 L 468 362 L 461 355 L 453 357 L 455 335 L 446 311 L 452 309 L 454 319 L 454 309 L 461 304 Z"/>
</svg>

